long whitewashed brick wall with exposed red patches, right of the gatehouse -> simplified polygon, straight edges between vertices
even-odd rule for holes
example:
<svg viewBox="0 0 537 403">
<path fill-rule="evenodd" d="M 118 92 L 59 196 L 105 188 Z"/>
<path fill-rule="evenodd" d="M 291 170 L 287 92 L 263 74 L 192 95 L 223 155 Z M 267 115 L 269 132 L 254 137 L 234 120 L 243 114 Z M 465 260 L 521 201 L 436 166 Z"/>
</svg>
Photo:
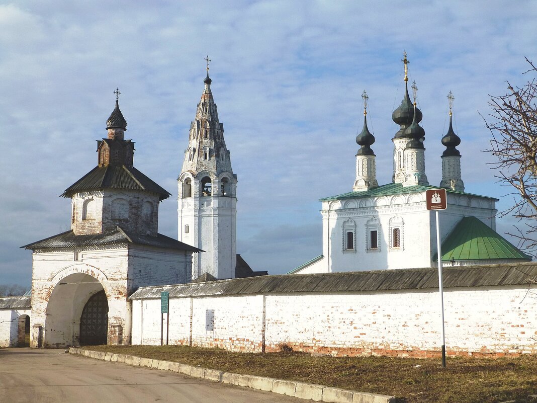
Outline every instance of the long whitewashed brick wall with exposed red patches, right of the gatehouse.
<svg viewBox="0 0 537 403">
<path fill-rule="evenodd" d="M 537 300 L 524 298 L 526 291 L 445 290 L 448 354 L 537 353 Z M 132 331 L 134 344 L 160 344 L 159 299 L 133 301 Z M 169 343 L 252 352 L 286 343 L 332 355 L 427 357 L 440 351 L 439 296 L 407 290 L 170 298 Z"/>
</svg>

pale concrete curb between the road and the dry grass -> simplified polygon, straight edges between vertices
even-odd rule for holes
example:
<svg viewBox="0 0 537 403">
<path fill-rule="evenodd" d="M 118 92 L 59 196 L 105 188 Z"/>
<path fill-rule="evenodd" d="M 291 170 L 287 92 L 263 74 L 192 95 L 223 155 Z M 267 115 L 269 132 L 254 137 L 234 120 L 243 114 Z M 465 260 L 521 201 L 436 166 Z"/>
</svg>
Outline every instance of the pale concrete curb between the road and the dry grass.
<svg viewBox="0 0 537 403">
<path fill-rule="evenodd" d="M 143 366 L 163 371 L 182 373 L 194 378 L 202 378 L 224 384 L 250 387 L 252 389 L 285 394 L 287 396 L 324 401 L 327 403 L 395 403 L 395 397 L 384 394 L 374 394 L 356 391 L 347 391 L 337 387 L 307 384 L 292 380 L 273 379 L 240 373 L 222 372 L 200 366 L 181 364 L 177 362 L 161 361 L 159 359 L 141 358 L 125 354 L 69 348 L 69 354 L 78 354 L 84 357 L 102 359 L 104 361 L 119 362 L 133 366 Z"/>
</svg>

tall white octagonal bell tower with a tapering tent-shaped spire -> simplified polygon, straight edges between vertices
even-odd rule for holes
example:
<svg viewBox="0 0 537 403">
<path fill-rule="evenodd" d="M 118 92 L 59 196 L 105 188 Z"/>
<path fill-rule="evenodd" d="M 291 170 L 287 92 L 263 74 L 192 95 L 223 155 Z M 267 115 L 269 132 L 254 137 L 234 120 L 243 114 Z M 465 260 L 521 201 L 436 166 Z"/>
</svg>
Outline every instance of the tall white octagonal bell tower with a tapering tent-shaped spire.
<svg viewBox="0 0 537 403">
<path fill-rule="evenodd" d="M 188 147 L 178 185 L 178 239 L 204 250 L 192 258 L 192 279 L 208 273 L 234 278 L 236 255 L 237 176 L 231 169 L 211 92 L 209 57 L 205 88 L 190 125 Z"/>
</svg>

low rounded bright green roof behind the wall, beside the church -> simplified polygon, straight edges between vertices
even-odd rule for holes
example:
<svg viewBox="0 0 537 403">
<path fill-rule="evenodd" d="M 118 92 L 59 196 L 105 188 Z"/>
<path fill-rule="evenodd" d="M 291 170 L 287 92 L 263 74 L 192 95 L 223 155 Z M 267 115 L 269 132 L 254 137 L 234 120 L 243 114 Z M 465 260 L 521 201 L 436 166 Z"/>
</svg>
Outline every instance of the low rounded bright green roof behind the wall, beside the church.
<svg viewBox="0 0 537 403">
<path fill-rule="evenodd" d="M 475 217 L 464 217 L 442 242 L 442 261 L 520 259 L 531 261 L 503 236 Z M 433 260 L 437 260 L 435 254 Z"/>
</svg>

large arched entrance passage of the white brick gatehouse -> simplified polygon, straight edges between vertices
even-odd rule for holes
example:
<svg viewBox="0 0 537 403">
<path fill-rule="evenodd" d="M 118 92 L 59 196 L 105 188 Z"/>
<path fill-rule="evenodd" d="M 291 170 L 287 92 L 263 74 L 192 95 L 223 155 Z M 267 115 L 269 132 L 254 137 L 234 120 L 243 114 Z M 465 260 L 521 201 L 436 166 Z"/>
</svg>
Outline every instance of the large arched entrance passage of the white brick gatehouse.
<svg viewBox="0 0 537 403">
<path fill-rule="evenodd" d="M 75 272 L 54 286 L 47 304 L 44 347 L 92 346 L 108 338 L 108 298 L 95 277 Z"/>
</svg>

